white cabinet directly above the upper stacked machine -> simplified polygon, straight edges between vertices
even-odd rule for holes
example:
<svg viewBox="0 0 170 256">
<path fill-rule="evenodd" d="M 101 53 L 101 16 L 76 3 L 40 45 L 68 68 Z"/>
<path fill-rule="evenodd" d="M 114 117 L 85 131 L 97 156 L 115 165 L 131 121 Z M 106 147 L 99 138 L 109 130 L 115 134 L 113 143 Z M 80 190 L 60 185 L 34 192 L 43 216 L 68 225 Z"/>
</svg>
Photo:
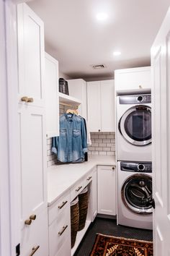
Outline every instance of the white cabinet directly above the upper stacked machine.
<svg viewBox="0 0 170 256">
<path fill-rule="evenodd" d="M 115 90 L 135 93 L 151 90 L 151 67 L 115 70 Z"/>
</svg>

